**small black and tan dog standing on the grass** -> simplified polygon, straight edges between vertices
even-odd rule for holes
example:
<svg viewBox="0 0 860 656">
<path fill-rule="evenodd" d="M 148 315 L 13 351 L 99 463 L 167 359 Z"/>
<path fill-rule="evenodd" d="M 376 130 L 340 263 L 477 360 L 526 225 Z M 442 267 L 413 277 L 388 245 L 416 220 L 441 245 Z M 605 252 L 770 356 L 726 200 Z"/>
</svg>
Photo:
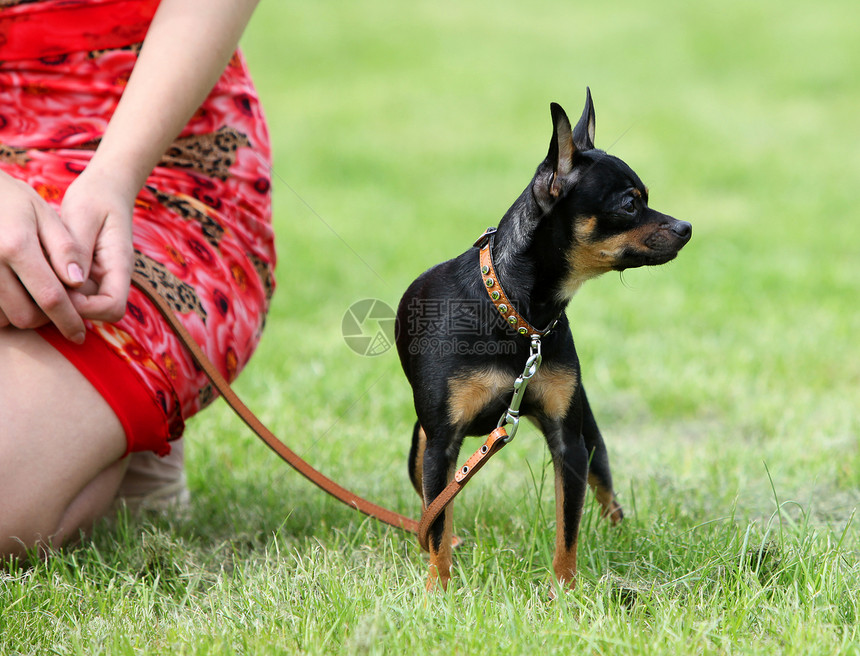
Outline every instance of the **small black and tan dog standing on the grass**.
<svg viewBox="0 0 860 656">
<path fill-rule="evenodd" d="M 559 105 L 551 111 L 549 153 L 498 230 L 406 290 L 397 312 L 397 350 L 418 414 L 409 476 L 426 507 L 451 480 L 463 438 L 488 434 L 507 409 L 530 353 L 531 326 L 552 326 L 541 338 L 542 366 L 521 413 L 541 429 L 552 455 L 553 569 L 559 582 L 573 586 L 586 484 L 603 516 L 617 523 L 623 513 L 564 310 L 589 278 L 673 259 L 692 227 L 649 208 L 639 176 L 594 147 L 590 91 L 575 128 Z M 494 291 L 506 293 L 507 302 Z M 451 539 L 449 506 L 430 532 L 429 588 L 450 579 Z"/>
</svg>

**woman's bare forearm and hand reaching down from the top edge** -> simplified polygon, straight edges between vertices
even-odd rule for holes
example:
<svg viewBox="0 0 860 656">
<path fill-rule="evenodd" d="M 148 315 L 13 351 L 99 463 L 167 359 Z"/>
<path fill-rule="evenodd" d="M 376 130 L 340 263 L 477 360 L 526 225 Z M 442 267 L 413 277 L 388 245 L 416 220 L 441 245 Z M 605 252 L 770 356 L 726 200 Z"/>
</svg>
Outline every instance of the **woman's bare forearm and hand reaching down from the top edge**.
<svg viewBox="0 0 860 656">
<path fill-rule="evenodd" d="M 74 261 L 92 281 L 71 295 L 82 317 L 116 321 L 125 312 L 134 199 L 220 77 L 257 1 L 162 0 L 104 137 L 60 210 L 80 259 L 55 270 L 78 287 L 67 273 Z"/>
</svg>

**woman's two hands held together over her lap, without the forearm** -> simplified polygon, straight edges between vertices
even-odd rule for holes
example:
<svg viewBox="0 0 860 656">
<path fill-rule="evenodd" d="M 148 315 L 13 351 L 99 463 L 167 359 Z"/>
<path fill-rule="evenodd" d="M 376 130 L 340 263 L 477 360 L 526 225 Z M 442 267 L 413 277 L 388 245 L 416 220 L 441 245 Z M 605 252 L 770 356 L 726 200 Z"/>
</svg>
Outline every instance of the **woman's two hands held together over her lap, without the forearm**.
<svg viewBox="0 0 860 656">
<path fill-rule="evenodd" d="M 53 323 L 74 342 L 84 319 L 119 321 L 131 280 L 133 191 L 88 167 L 60 214 L 0 172 L 0 327 Z"/>
</svg>

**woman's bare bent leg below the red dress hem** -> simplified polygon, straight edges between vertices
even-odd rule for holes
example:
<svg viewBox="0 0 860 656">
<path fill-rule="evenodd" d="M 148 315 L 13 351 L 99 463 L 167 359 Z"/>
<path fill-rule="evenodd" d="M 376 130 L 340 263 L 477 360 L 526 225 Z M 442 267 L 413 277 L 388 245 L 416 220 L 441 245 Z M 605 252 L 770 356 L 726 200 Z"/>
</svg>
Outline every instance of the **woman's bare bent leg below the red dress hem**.
<svg viewBox="0 0 860 656">
<path fill-rule="evenodd" d="M 125 448 L 116 415 L 71 363 L 33 331 L 0 328 L 0 556 L 87 530 L 113 501 Z"/>
</svg>

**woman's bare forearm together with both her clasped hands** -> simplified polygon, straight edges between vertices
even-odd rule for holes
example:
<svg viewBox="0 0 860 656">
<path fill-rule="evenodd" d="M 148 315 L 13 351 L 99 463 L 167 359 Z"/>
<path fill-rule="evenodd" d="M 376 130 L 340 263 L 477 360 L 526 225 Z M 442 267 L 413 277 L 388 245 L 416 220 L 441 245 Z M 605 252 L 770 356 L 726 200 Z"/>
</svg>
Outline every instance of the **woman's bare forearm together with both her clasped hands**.
<svg viewBox="0 0 860 656">
<path fill-rule="evenodd" d="M 0 173 L 0 327 L 117 321 L 132 267 L 134 198 L 212 89 L 258 0 L 162 0 L 93 159 L 59 216 Z M 153 111 L 153 107 L 158 108 Z"/>
</svg>

